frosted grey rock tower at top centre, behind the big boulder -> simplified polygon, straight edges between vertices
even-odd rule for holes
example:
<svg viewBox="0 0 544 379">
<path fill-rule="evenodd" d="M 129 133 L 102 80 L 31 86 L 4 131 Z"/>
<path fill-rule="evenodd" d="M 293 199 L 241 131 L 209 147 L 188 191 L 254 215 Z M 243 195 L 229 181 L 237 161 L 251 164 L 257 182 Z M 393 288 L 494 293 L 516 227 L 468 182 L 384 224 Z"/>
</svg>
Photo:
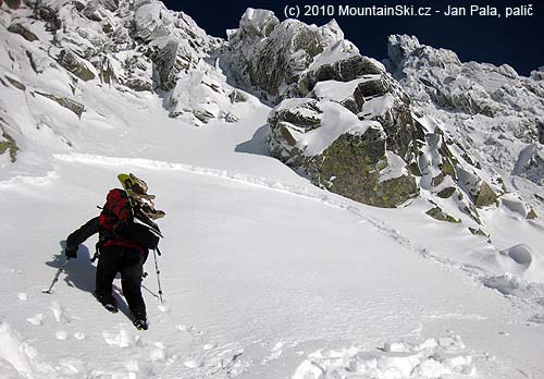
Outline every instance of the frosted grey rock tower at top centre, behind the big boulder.
<svg viewBox="0 0 544 379">
<path fill-rule="evenodd" d="M 239 28 L 230 34 L 224 60 L 238 82 L 277 102 L 311 90 L 300 90 L 299 81 L 312 81 L 310 77 L 302 80 L 302 75 L 308 72 L 314 57 L 339 41 L 344 45 L 337 48 L 346 50 L 345 57 L 349 56 L 349 49 L 357 52 L 355 46 L 344 40 L 344 34 L 334 21 L 321 27 L 297 20 L 280 23 L 273 12 L 248 9 Z M 361 62 L 344 62 L 346 72 L 350 63 L 357 65 Z"/>
</svg>

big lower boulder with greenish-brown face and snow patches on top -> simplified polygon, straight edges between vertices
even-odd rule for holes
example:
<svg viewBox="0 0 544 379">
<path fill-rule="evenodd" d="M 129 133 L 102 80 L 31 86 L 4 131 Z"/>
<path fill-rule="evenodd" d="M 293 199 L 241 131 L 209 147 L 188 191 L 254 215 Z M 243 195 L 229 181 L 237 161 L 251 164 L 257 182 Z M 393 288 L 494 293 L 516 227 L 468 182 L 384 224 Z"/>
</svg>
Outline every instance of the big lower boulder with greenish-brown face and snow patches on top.
<svg viewBox="0 0 544 379">
<path fill-rule="evenodd" d="M 406 162 L 386 150 L 383 126 L 359 120 L 336 101 L 286 99 L 268 121 L 272 156 L 331 192 L 379 207 L 395 207 L 418 193 Z"/>
</svg>

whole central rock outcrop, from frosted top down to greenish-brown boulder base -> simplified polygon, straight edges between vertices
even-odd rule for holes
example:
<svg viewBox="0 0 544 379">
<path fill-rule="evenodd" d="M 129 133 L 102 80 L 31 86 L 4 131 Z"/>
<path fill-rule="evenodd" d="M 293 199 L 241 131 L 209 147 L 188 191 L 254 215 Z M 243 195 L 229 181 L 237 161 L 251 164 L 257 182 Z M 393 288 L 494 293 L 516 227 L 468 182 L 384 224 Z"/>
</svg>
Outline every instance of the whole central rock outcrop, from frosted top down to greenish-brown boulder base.
<svg viewBox="0 0 544 379">
<path fill-rule="evenodd" d="M 248 10 L 228 44 L 238 81 L 284 99 L 268 120 L 272 156 L 361 203 L 395 207 L 418 194 L 404 160 L 413 159 L 419 135 L 409 97 L 334 21 L 279 23 L 272 12 Z"/>
</svg>

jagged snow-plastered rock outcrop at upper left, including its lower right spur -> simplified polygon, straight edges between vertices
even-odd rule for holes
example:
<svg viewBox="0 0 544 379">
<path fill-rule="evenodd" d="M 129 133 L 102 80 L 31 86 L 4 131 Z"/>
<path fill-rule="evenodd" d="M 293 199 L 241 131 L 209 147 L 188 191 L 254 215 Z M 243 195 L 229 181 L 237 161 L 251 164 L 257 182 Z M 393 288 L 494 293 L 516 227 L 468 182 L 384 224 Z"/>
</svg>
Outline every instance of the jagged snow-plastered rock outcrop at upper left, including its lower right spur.
<svg viewBox="0 0 544 379">
<path fill-rule="evenodd" d="M 25 16 L 34 20 L 22 22 L 25 19 L 14 13 L 16 22 L 5 27 L 28 41 L 36 41 L 44 29 L 49 32 L 39 45 L 47 51 L 47 59 L 27 49 L 37 74 L 54 66 L 52 60 L 73 75 L 72 86 L 77 81 L 99 81 L 121 91 L 159 91 L 166 97 L 164 105 L 173 107 L 168 109 L 169 114 L 183 114 L 185 121 L 196 125 L 214 118 L 230 122 L 238 119 L 228 97 L 234 88 L 224 80 L 224 90 L 217 90 L 214 85 L 213 96 L 208 96 L 209 84 L 219 72 L 211 54 L 224 41 L 208 36 L 185 13 L 170 11 L 154 0 L 40 0 L 24 7 Z M 195 70 L 205 73 L 199 83 L 190 80 Z M 178 81 L 201 87 L 191 90 L 202 96 L 193 97 L 190 106 L 180 107 L 184 100 L 175 96 L 182 91 L 174 90 Z"/>
</svg>

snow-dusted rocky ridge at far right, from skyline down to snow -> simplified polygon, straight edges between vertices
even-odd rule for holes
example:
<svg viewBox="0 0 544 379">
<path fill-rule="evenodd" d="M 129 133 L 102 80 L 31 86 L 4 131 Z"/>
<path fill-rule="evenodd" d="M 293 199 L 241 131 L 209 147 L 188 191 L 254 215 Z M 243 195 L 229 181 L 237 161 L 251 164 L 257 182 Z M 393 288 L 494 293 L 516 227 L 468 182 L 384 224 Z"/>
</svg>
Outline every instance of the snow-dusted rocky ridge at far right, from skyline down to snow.
<svg viewBox="0 0 544 379">
<path fill-rule="evenodd" d="M 529 181 L 523 187 L 532 188 L 539 205 L 544 195 L 540 71 L 523 77 L 507 64 L 462 63 L 453 51 L 409 36 L 391 36 L 388 56 L 386 66 L 418 111 L 433 115 L 424 120 L 428 136 L 441 131 L 448 151 L 434 157 L 449 159 L 455 184 L 474 206 L 499 204 L 505 193 L 519 188 L 519 178 Z"/>
</svg>

